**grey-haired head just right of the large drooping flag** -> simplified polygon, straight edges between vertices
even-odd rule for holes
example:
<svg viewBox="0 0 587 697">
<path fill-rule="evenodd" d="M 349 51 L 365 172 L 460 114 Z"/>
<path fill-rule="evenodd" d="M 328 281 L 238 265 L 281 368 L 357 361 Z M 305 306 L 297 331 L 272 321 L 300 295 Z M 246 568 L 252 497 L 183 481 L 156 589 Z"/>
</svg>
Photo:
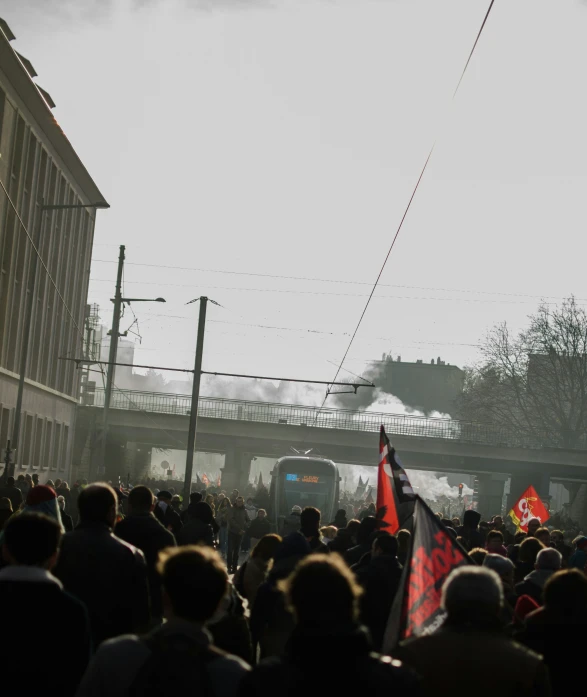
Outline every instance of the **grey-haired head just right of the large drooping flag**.
<svg viewBox="0 0 587 697">
<path fill-rule="evenodd" d="M 452 624 L 495 624 L 502 606 L 501 580 L 483 566 L 455 569 L 442 588 L 442 607 Z"/>
</svg>

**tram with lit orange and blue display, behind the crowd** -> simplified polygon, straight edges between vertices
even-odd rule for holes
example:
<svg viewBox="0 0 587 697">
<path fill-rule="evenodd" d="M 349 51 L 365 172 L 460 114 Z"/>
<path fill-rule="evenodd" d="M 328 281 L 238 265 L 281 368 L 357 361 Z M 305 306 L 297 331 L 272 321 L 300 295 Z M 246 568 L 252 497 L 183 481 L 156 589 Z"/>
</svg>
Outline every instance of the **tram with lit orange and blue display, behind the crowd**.
<svg viewBox="0 0 587 697">
<path fill-rule="evenodd" d="M 322 457 L 288 455 L 280 458 L 271 472 L 269 496 L 275 521 L 294 506 L 313 506 L 327 525 L 338 509 L 340 476 L 338 467 Z"/>
</svg>

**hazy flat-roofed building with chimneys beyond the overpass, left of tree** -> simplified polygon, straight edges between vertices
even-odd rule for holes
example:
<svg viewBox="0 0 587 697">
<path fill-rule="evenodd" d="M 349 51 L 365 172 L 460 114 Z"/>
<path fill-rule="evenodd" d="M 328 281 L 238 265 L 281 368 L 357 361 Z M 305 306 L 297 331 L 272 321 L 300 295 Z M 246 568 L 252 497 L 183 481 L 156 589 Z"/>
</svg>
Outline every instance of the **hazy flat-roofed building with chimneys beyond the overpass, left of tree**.
<svg viewBox="0 0 587 697">
<path fill-rule="evenodd" d="M 400 356 L 395 360 L 387 356 L 377 386 L 427 414 L 438 411 L 454 415 L 464 382 L 464 371 L 440 358 L 430 363 L 407 363 Z"/>
</svg>

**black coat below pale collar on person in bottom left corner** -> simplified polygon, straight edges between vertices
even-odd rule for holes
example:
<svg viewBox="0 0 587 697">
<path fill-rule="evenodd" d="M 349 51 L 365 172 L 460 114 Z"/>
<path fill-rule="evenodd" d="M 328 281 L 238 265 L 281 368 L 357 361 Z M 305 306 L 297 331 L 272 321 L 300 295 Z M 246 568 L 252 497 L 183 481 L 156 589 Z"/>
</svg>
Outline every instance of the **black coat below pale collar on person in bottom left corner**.
<svg viewBox="0 0 587 697">
<path fill-rule="evenodd" d="M 47 692 L 53 684 L 59 697 L 73 697 L 92 649 L 84 604 L 51 582 L 2 580 L 0 597 L 4 693 L 37 692 L 32 686 L 45 681 Z"/>
</svg>

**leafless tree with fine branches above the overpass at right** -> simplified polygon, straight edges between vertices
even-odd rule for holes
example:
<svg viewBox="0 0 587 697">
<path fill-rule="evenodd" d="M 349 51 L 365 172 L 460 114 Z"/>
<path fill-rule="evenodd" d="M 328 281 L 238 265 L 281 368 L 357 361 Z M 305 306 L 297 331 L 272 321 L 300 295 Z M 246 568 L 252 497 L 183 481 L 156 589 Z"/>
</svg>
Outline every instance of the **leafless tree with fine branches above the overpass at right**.
<svg viewBox="0 0 587 697">
<path fill-rule="evenodd" d="M 483 360 L 466 371 L 461 412 L 526 434 L 541 445 L 578 447 L 587 431 L 587 313 L 573 297 L 543 304 L 517 335 L 489 332 Z"/>
</svg>

